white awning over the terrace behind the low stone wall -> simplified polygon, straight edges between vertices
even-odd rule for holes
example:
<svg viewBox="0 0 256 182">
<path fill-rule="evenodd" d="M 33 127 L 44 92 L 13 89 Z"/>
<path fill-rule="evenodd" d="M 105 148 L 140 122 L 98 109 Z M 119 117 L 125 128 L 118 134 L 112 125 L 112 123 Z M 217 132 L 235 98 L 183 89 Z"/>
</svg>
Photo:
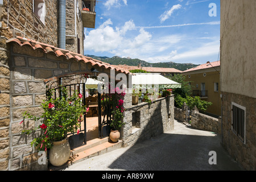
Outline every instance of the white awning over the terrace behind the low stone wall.
<svg viewBox="0 0 256 182">
<path fill-rule="evenodd" d="M 181 84 L 172 81 L 160 73 L 135 73 L 132 76 L 131 82 L 133 85 L 159 85 L 159 88 L 181 88 Z"/>
</svg>

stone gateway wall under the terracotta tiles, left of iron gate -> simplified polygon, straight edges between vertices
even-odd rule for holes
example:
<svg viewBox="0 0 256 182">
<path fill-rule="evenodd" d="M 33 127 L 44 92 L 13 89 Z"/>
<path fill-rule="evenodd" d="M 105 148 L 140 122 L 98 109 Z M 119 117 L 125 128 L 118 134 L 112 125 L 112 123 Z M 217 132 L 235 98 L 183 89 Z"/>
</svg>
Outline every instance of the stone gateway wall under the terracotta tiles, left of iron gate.
<svg viewBox="0 0 256 182">
<path fill-rule="evenodd" d="M 23 120 L 23 112 L 40 115 L 40 104 L 46 98 L 46 81 L 59 76 L 91 73 L 92 65 L 82 61 L 57 57 L 30 46 L 9 44 L 7 65 L 0 66 L 0 166 L 2 170 L 42 170 L 39 157 L 30 143 L 32 137 L 22 130 L 40 125 L 30 119 Z M 96 66 L 95 66 L 96 67 Z M 109 69 L 99 68 L 110 74 Z M 9 71 L 10 70 L 10 71 Z"/>
</svg>

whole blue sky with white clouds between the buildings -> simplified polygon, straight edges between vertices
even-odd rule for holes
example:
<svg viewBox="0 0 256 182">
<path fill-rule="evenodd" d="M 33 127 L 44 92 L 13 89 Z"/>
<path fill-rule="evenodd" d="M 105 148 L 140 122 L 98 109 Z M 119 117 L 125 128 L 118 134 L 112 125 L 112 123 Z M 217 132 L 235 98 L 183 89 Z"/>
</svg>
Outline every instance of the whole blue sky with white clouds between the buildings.
<svg viewBox="0 0 256 182">
<path fill-rule="evenodd" d="M 95 26 L 85 55 L 204 64 L 218 60 L 220 0 L 101 0 Z"/>
</svg>

